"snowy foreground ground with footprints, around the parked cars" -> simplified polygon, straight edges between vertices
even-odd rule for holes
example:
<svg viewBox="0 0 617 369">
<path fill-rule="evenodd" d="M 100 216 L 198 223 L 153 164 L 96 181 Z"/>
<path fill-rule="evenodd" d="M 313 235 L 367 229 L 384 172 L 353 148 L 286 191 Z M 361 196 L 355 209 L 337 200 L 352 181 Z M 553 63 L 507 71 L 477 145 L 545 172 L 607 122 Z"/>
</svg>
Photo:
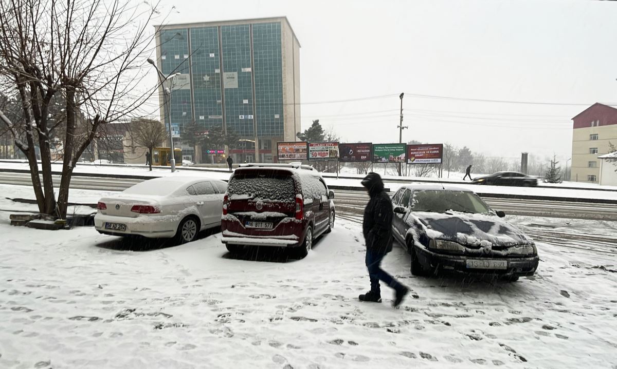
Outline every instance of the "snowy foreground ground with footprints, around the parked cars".
<svg viewBox="0 0 617 369">
<path fill-rule="evenodd" d="M 395 248 L 384 269 L 412 293 L 393 309 L 387 286 L 382 304 L 357 300 L 369 282 L 354 222 L 292 260 L 272 249 L 234 258 L 220 233 L 143 249 L 8 219 L 0 211 L 1 368 L 617 368 L 615 254 L 565 238 L 540 241 L 537 274 L 516 283 L 413 277 Z M 508 219 L 555 238 L 617 229 Z"/>
</svg>

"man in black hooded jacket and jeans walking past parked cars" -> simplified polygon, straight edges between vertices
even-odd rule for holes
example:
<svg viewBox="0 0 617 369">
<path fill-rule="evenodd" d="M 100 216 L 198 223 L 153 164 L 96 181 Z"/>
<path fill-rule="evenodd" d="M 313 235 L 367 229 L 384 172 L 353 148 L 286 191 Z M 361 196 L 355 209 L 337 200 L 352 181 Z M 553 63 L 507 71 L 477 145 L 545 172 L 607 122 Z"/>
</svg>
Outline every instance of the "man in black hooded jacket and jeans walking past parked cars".
<svg viewBox="0 0 617 369">
<path fill-rule="evenodd" d="M 394 288 L 394 307 L 400 305 L 409 292 L 394 277 L 381 269 L 381 260 L 392 251 L 392 201 L 384 191 L 384 183 L 379 174 L 370 172 L 363 180 L 362 185 L 368 191 L 370 200 L 364 210 L 362 232 L 366 241 L 366 268 L 371 280 L 371 290 L 358 296 L 360 301 L 381 302 L 379 280 Z"/>
</svg>

